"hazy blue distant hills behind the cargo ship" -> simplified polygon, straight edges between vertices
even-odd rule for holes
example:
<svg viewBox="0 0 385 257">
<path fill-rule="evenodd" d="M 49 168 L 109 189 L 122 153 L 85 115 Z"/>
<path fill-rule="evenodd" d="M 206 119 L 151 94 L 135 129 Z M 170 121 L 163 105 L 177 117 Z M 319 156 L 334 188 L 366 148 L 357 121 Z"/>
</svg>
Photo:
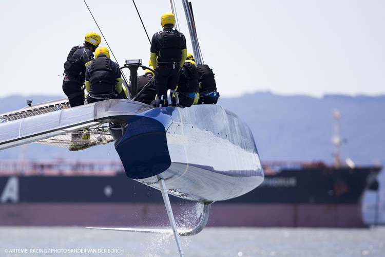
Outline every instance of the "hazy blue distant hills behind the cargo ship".
<svg viewBox="0 0 385 257">
<path fill-rule="evenodd" d="M 32 104 L 63 96 L 31 96 Z M 11 96 L 1 99 L 0 113 L 26 106 L 28 99 Z M 385 96 L 348 97 L 328 95 L 323 98 L 279 96 L 268 92 L 237 98 L 219 98 L 218 104 L 241 117 L 251 128 L 262 160 L 333 161 L 333 110 L 341 112 L 341 159 L 356 164 L 385 164 Z M 2 159 L 26 158 L 119 158 L 113 145 L 69 152 L 34 144 L 0 151 Z"/>
</svg>

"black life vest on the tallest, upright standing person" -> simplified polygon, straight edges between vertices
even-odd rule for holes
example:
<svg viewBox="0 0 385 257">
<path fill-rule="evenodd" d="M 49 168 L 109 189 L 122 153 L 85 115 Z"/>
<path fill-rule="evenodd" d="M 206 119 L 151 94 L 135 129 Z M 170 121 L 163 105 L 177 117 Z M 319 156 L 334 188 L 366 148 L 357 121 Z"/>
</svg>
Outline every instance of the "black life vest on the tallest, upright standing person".
<svg viewBox="0 0 385 257">
<path fill-rule="evenodd" d="M 182 59 L 182 34 L 178 30 L 163 30 L 159 34 L 162 36 L 163 45 L 158 52 L 158 62 L 180 62 Z"/>
</svg>

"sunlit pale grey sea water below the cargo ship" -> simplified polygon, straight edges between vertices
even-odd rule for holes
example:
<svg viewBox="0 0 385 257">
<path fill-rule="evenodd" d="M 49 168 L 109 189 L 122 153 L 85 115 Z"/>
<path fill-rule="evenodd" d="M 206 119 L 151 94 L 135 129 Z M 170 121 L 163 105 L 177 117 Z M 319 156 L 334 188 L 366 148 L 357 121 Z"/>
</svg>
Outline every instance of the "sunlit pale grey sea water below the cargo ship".
<svg viewBox="0 0 385 257">
<path fill-rule="evenodd" d="M 181 237 L 184 256 L 385 256 L 385 227 L 205 228 Z M 0 256 L 179 256 L 172 234 L 82 227 L 0 227 Z"/>
</svg>

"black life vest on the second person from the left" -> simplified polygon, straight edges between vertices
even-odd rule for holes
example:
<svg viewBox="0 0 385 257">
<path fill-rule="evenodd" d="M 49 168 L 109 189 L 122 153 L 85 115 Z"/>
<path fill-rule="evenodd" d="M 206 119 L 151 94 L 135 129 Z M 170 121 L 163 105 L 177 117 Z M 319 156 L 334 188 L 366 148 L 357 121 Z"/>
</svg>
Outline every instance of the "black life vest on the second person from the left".
<svg viewBox="0 0 385 257">
<path fill-rule="evenodd" d="M 90 92 L 92 94 L 111 94 L 115 90 L 116 76 L 111 68 L 111 60 L 101 56 L 94 59 L 89 65 Z"/>
</svg>

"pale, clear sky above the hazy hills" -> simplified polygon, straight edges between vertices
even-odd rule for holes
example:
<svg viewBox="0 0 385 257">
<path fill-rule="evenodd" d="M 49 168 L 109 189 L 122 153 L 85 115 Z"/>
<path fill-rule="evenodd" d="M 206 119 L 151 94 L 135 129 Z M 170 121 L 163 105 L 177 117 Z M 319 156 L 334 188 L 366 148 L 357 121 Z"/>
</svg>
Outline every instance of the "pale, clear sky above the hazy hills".
<svg viewBox="0 0 385 257">
<path fill-rule="evenodd" d="M 118 63 L 140 58 L 147 64 L 150 43 L 132 1 L 86 2 Z M 162 29 L 170 1 L 136 5 L 151 38 Z M 181 1 L 175 5 L 192 53 Z M 385 1 L 192 0 L 192 8 L 204 63 L 214 70 L 222 97 L 256 91 L 385 95 Z M 0 98 L 65 97 L 69 50 L 88 31 L 100 32 L 84 1 L 2 0 L 0 10 Z M 103 38 L 100 45 L 107 46 Z"/>
</svg>

